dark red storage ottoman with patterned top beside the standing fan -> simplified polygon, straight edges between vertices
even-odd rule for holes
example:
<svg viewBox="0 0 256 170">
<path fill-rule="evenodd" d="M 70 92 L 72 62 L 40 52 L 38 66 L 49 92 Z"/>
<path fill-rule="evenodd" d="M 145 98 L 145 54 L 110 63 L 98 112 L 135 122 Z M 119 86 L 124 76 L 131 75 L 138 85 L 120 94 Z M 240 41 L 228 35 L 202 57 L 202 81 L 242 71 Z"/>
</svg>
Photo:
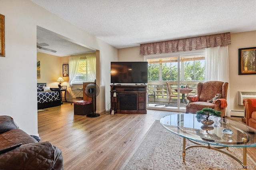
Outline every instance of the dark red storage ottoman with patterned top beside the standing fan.
<svg viewBox="0 0 256 170">
<path fill-rule="evenodd" d="M 74 114 L 75 115 L 88 115 L 93 112 L 92 101 L 75 101 Z"/>
</svg>

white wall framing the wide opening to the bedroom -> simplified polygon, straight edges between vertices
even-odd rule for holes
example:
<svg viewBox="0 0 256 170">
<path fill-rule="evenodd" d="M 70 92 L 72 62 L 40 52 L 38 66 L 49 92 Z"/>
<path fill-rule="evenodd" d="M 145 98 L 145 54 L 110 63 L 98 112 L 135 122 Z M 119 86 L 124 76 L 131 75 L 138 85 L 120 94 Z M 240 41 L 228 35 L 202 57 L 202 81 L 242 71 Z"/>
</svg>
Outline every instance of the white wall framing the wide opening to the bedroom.
<svg viewBox="0 0 256 170">
<path fill-rule="evenodd" d="M 30 0 L 0 0 L 0 11 L 5 16 L 6 41 L 6 57 L 0 57 L 0 115 L 10 115 L 29 134 L 38 133 L 36 26 L 62 35 L 74 43 L 100 50 L 100 69 L 97 68 L 100 78 L 97 84 L 105 92 L 104 86 L 110 85 L 110 78 L 106 78 L 110 77 L 110 61 L 117 60 L 116 48 Z M 100 98 L 97 98 L 99 110 L 104 110 L 107 105 L 105 94 L 108 95 L 106 98 L 110 98 L 109 93 L 101 92 Z"/>
</svg>

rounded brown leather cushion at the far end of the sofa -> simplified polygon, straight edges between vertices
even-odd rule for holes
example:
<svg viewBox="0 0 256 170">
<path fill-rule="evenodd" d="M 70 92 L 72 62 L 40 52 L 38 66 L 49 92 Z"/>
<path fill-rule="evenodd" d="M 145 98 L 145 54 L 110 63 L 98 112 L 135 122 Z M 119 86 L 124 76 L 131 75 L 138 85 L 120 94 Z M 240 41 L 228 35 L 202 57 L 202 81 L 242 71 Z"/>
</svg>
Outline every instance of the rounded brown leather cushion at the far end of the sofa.
<svg viewBox="0 0 256 170">
<path fill-rule="evenodd" d="M 19 128 L 10 116 L 0 116 L 0 134 L 7 132 L 9 130 Z"/>
</svg>

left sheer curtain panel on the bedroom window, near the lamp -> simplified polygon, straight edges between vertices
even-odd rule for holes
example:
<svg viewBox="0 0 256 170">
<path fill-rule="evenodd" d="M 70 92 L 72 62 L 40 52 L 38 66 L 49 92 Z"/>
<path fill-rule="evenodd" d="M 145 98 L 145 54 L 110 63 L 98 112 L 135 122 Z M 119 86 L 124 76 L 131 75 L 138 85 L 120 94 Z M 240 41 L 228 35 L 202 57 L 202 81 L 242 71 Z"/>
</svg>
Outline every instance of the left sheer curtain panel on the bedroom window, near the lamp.
<svg viewBox="0 0 256 170">
<path fill-rule="evenodd" d="M 79 60 L 80 57 L 69 57 L 69 61 L 68 61 L 68 75 L 69 75 L 69 82 L 68 85 L 69 87 L 72 87 L 72 81 L 75 79 L 76 77 L 76 73 L 78 70 L 78 65 L 79 65 Z"/>
</svg>

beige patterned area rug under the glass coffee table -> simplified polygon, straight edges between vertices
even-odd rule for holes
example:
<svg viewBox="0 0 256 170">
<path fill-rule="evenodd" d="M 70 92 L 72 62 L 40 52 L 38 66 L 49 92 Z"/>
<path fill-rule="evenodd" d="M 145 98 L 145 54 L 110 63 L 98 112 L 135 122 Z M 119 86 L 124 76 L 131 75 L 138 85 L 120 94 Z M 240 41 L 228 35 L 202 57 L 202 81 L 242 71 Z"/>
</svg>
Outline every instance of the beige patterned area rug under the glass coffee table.
<svg viewBox="0 0 256 170">
<path fill-rule="evenodd" d="M 121 170 L 231 170 L 242 169 L 234 159 L 207 148 L 186 150 L 182 159 L 183 138 L 166 130 L 155 121 L 144 139 L 122 165 Z M 193 143 L 186 140 L 186 145 Z M 242 160 L 242 148 L 229 147 L 226 152 Z M 256 169 L 256 162 L 247 154 L 247 169 Z"/>
</svg>

